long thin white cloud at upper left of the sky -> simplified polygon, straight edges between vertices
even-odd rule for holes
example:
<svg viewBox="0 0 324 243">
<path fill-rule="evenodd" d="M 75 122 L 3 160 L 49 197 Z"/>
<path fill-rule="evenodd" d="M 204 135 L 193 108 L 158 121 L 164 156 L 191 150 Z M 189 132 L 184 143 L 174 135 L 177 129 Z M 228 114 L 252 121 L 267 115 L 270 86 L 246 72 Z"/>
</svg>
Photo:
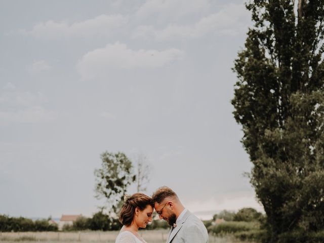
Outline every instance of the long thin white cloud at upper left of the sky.
<svg viewBox="0 0 324 243">
<path fill-rule="evenodd" d="M 111 35 L 115 30 L 128 22 L 128 17 L 117 15 L 100 15 L 93 19 L 68 24 L 66 21 L 47 21 L 36 24 L 32 30 L 20 30 L 20 33 L 43 38 L 79 37 L 94 35 Z"/>
</svg>

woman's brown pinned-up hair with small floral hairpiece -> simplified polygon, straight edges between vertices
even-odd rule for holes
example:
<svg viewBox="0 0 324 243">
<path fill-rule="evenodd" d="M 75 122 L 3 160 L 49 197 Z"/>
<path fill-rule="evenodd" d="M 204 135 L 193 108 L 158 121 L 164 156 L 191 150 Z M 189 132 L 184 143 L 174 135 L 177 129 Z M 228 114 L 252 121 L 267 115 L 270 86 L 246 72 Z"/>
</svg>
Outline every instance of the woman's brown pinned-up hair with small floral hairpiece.
<svg viewBox="0 0 324 243">
<path fill-rule="evenodd" d="M 123 225 L 130 226 L 135 216 L 135 209 L 139 208 L 143 211 L 147 205 L 154 208 L 154 203 L 151 197 L 143 193 L 134 193 L 131 196 L 124 196 L 124 204 L 119 213 L 119 222 Z"/>
</svg>

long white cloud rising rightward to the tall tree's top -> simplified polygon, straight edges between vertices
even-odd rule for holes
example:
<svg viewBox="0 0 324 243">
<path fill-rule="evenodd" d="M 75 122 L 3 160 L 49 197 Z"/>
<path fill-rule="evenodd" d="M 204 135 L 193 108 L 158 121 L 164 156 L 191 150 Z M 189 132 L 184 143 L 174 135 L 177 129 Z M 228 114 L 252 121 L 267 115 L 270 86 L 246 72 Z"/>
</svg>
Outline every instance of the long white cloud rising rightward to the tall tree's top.
<svg viewBox="0 0 324 243">
<path fill-rule="evenodd" d="M 201 18 L 191 25 L 169 24 L 160 30 L 152 26 L 139 26 L 132 37 L 149 39 L 153 36 L 158 41 L 168 41 L 177 37 L 200 38 L 208 33 L 236 35 L 240 31 L 246 31 L 249 16 L 244 5 L 228 4 L 218 13 Z"/>
</svg>

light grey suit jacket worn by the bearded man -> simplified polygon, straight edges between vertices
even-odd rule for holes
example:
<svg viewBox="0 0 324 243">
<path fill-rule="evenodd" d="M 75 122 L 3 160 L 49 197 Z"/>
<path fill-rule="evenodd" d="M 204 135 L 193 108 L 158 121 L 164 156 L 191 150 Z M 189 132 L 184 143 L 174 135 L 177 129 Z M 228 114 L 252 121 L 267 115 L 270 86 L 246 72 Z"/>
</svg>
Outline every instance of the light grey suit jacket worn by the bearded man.
<svg viewBox="0 0 324 243">
<path fill-rule="evenodd" d="M 177 227 L 171 227 L 167 243 L 208 243 L 208 232 L 203 222 L 187 211 Z"/>
</svg>

